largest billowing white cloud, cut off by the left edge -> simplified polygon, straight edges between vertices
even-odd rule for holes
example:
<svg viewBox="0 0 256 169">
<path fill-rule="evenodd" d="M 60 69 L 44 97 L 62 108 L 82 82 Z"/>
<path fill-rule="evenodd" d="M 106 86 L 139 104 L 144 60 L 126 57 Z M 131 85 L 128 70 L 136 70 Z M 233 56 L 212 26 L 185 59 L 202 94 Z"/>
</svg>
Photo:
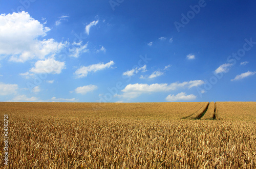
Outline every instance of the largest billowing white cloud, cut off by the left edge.
<svg viewBox="0 0 256 169">
<path fill-rule="evenodd" d="M 0 55 L 13 62 L 45 59 L 60 51 L 65 44 L 45 37 L 49 27 L 32 18 L 27 12 L 0 15 Z"/>
</svg>

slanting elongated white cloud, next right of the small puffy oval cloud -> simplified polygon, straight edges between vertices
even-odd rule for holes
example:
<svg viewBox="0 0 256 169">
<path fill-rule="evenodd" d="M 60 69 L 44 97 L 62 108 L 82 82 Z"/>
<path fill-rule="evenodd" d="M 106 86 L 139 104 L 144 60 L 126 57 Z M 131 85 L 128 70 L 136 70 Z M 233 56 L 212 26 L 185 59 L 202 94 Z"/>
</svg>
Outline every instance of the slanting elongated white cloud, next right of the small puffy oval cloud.
<svg viewBox="0 0 256 169">
<path fill-rule="evenodd" d="M 99 70 L 110 68 L 114 64 L 115 63 L 113 61 L 110 61 L 109 63 L 106 63 L 106 64 L 98 63 L 90 66 L 82 66 L 79 69 L 77 69 L 74 74 L 76 75 L 77 78 L 86 77 L 90 72 L 96 72 Z"/>
</svg>

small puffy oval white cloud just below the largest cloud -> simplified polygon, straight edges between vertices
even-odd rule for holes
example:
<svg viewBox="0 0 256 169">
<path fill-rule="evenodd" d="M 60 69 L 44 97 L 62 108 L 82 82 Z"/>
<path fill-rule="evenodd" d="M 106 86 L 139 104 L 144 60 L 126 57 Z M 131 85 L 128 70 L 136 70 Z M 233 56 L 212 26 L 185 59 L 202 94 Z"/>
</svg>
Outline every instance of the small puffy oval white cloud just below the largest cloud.
<svg viewBox="0 0 256 169">
<path fill-rule="evenodd" d="M 54 58 L 50 58 L 44 61 L 37 61 L 35 67 L 31 68 L 30 71 L 33 73 L 60 74 L 62 69 L 65 69 L 65 62 L 59 62 L 54 60 Z"/>
</svg>

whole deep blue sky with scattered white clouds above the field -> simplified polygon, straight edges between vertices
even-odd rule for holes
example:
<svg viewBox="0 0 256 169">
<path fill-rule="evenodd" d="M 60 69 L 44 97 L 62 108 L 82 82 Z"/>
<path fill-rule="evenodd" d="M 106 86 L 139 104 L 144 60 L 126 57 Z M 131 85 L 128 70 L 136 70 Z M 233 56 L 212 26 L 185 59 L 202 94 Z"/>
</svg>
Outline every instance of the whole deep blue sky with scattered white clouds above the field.
<svg viewBox="0 0 256 169">
<path fill-rule="evenodd" d="M 254 1 L 0 1 L 0 101 L 256 101 Z"/>
</svg>

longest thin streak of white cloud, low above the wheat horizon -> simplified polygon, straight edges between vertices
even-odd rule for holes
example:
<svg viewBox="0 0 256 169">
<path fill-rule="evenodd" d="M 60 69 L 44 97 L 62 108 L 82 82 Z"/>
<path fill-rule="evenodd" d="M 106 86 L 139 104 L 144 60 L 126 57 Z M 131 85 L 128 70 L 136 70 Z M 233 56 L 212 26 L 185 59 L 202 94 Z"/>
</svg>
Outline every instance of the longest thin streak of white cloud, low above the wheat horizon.
<svg viewBox="0 0 256 169">
<path fill-rule="evenodd" d="M 154 83 L 152 85 L 147 85 L 146 83 L 136 83 L 136 84 L 129 84 L 123 90 L 122 95 L 118 95 L 119 97 L 131 99 L 140 96 L 141 94 L 145 93 L 156 93 L 156 92 L 167 92 L 167 91 L 174 91 L 179 88 L 192 88 L 198 87 L 204 84 L 203 80 L 191 80 L 191 81 L 184 81 L 182 83 L 174 82 L 168 85 L 167 83 Z"/>
</svg>

